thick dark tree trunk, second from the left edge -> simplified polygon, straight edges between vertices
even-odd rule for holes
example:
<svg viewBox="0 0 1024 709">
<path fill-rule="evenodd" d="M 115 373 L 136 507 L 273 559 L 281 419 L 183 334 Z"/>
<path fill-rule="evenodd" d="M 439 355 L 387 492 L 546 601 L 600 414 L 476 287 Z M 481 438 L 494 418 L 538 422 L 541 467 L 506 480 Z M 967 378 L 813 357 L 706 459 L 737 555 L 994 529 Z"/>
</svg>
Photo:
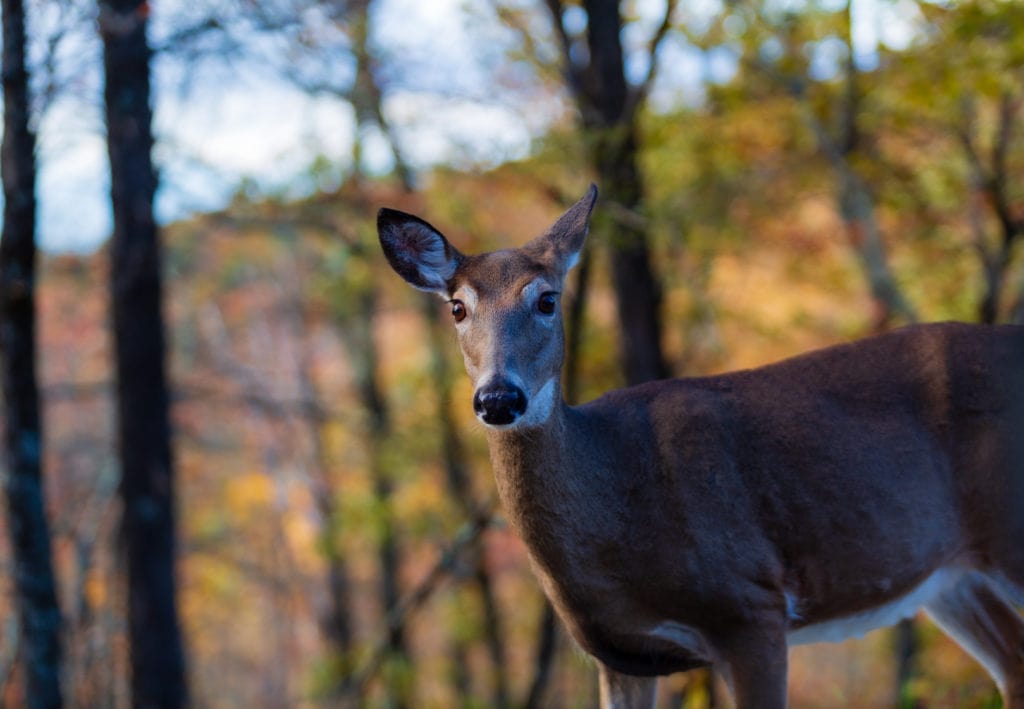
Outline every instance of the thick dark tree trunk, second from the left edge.
<svg viewBox="0 0 1024 709">
<path fill-rule="evenodd" d="M 150 110 L 148 4 L 99 5 L 114 238 L 111 303 L 122 464 L 121 538 L 127 556 L 132 704 L 186 702 L 175 598 L 171 461 L 161 253 L 153 217 L 157 177 Z"/>
</svg>

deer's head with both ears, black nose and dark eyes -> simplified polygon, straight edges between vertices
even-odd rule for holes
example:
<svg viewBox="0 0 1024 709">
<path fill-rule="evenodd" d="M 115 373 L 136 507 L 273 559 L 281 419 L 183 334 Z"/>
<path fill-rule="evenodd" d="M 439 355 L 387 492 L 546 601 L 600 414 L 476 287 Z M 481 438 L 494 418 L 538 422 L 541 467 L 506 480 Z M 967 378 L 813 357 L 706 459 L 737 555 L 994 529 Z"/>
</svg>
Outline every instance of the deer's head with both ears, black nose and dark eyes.
<svg viewBox="0 0 1024 709">
<path fill-rule="evenodd" d="M 381 246 L 409 284 L 452 306 L 473 382 L 473 410 L 510 429 L 548 420 L 561 397 L 561 294 L 587 237 L 597 187 L 518 249 L 463 255 L 429 223 L 393 209 L 377 216 Z"/>
</svg>

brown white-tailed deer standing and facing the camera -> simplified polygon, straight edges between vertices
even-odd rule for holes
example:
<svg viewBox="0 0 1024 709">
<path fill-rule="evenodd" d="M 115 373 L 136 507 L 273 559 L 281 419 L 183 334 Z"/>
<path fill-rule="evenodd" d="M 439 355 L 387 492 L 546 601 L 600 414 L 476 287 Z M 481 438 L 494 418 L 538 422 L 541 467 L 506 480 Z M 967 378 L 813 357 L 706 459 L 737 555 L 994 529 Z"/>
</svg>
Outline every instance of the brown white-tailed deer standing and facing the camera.
<svg viewBox="0 0 1024 709">
<path fill-rule="evenodd" d="M 1024 327 L 911 325 L 569 406 L 561 294 L 596 202 L 474 255 L 401 211 L 377 226 L 451 306 L 500 502 L 602 707 L 703 666 L 739 709 L 784 707 L 791 645 L 923 609 L 1024 709 Z"/>
</svg>

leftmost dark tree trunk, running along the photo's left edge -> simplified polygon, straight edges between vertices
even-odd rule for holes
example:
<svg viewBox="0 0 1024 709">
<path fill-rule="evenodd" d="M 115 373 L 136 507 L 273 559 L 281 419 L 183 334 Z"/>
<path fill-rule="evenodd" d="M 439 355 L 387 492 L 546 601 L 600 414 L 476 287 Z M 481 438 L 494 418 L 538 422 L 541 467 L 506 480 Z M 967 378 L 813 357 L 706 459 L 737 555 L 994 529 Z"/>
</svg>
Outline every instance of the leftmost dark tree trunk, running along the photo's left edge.
<svg viewBox="0 0 1024 709">
<path fill-rule="evenodd" d="M 60 611 L 42 488 L 42 424 L 36 377 L 36 158 L 29 128 L 25 11 L 3 0 L 4 193 L 0 239 L 0 358 L 3 382 L 3 487 L 20 621 L 25 700 L 59 707 Z"/>
</svg>

